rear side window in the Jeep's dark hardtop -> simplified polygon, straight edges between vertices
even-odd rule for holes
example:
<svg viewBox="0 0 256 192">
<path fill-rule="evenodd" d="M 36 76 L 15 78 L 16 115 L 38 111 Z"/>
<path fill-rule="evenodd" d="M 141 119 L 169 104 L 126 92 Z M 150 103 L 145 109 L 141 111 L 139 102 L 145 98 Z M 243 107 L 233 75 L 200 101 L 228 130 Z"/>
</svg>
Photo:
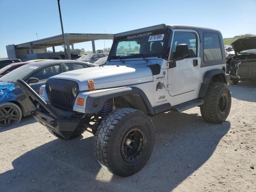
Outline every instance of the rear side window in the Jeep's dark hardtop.
<svg viewBox="0 0 256 192">
<path fill-rule="evenodd" d="M 204 33 L 204 61 L 222 60 L 220 39 L 217 33 Z"/>
</svg>

